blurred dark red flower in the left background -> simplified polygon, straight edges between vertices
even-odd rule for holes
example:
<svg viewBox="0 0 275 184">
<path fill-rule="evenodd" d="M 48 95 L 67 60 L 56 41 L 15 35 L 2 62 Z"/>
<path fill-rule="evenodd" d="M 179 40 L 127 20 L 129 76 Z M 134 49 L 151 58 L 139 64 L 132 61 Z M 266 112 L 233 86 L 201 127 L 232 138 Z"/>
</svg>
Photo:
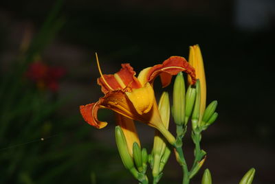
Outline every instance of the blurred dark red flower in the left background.
<svg viewBox="0 0 275 184">
<path fill-rule="evenodd" d="M 33 62 L 26 72 L 26 76 L 36 82 L 39 89 L 58 90 L 58 80 L 65 75 L 62 67 L 50 67 L 45 63 Z"/>
</svg>

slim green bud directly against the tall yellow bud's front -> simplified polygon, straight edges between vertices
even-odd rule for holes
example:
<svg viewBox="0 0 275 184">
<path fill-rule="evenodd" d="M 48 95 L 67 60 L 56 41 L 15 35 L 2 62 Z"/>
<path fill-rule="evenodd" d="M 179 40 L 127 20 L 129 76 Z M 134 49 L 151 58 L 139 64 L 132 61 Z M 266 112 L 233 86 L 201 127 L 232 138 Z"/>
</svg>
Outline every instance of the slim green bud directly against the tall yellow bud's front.
<svg viewBox="0 0 275 184">
<path fill-rule="evenodd" d="M 192 113 L 192 129 L 196 130 L 198 124 L 199 124 L 199 106 L 201 103 L 201 87 L 199 80 L 196 82 L 196 100 L 195 100 L 195 106 Z"/>
</svg>

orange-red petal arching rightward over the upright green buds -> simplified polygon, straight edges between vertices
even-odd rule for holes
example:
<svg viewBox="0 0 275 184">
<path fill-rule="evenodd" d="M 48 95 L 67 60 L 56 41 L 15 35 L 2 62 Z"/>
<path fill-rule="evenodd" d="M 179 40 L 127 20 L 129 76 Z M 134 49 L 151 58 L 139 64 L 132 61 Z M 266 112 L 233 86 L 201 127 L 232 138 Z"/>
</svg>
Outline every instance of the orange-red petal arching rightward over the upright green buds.
<svg viewBox="0 0 275 184">
<path fill-rule="evenodd" d="M 162 64 L 153 66 L 147 73 L 147 79 L 148 82 L 153 82 L 160 75 L 162 87 L 167 87 L 170 84 L 171 76 L 177 75 L 180 71 L 188 73 L 192 78 L 192 84 L 195 84 L 195 69 L 189 65 L 185 58 L 180 56 L 171 56 L 167 60 L 164 60 Z"/>
</svg>

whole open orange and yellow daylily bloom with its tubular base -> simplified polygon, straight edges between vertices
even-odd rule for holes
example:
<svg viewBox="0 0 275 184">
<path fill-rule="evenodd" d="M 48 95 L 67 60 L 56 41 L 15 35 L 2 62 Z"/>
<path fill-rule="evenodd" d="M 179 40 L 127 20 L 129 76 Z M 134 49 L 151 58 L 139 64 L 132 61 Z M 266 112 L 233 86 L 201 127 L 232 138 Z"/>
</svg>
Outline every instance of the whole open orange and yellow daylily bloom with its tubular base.
<svg viewBox="0 0 275 184">
<path fill-rule="evenodd" d="M 97 55 L 96 58 L 98 62 Z M 101 86 L 104 97 L 100 97 L 98 102 L 80 106 L 80 113 L 88 124 L 96 128 L 107 126 L 107 122 L 98 120 L 97 114 L 99 108 L 108 108 L 124 117 L 157 128 L 170 143 L 175 141 L 173 135 L 170 135 L 162 124 L 155 101 L 153 81 L 160 76 L 162 86 L 166 87 L 170 84 L 172 76 L 184 71 L 189 74 L 192 83 L 195 84 L 195 69 L 188 64 L 185 58 L 171 56 L 162 64 L 142 70 L 137 78 L 129 63 L 122 64 L 122 69 L 113 75 L 102 75 L 99 62 L 98 70 L 100 71 L 98 84 Z"/>
</svg>

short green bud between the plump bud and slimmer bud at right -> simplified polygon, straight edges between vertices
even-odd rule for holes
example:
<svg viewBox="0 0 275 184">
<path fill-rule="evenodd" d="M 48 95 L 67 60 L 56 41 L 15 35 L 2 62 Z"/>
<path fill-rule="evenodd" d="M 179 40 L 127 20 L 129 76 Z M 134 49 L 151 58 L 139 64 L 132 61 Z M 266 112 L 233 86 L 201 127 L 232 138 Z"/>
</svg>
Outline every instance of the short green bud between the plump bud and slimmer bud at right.
<svg viewBox="0 0 275 184">
<path fill-rule="evenodd" d="M 195 100 L 196 100 L 196 88 L 193 85 L 189 85 L 186 91 L 186 104 L 185 104 L 185 124 L 187 124 L 188 119 L 192 113 Z"/>
</svg>

